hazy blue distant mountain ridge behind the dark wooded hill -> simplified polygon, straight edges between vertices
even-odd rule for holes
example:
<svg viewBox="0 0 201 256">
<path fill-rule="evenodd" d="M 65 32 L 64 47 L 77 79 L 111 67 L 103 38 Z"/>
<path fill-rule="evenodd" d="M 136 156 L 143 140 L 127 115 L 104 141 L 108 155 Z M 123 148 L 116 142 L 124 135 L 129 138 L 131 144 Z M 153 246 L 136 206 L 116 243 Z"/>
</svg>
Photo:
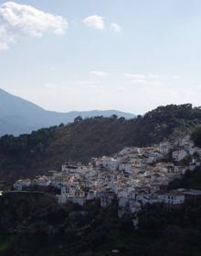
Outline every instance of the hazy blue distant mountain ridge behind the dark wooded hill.
<svg viewBox="0 0 201 256">
<path fill-rule="evenodd" d="M 4 134 L 19 135 L 30 133 L 38 128 L 56 126 L 60 123 L 69 123 L 75 117 L 118 117 L 132 118 L 134 115 L 116 110 L 71 111 L 58 113 L 45 110 L 20 97 L 6 93 L 0 89 L 0 136 Z"/>
</svg>

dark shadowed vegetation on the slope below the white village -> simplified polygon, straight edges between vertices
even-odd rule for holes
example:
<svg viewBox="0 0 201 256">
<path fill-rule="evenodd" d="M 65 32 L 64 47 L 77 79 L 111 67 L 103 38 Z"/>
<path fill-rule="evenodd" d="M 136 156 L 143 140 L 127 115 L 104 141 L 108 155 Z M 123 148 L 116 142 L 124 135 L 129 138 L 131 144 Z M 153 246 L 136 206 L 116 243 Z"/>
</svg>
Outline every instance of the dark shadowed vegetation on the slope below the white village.
<svg viewBox="0 0 201 256">
<path fill-rule="evenodd" d="M 47 196 L 0 197 L 2 256 L 200 255 L 200 201 L 175 211 L 161 204 L 144 206 L 139 229 L 117 217 L 117 206 L 58 206 Z"/>
</svg>

